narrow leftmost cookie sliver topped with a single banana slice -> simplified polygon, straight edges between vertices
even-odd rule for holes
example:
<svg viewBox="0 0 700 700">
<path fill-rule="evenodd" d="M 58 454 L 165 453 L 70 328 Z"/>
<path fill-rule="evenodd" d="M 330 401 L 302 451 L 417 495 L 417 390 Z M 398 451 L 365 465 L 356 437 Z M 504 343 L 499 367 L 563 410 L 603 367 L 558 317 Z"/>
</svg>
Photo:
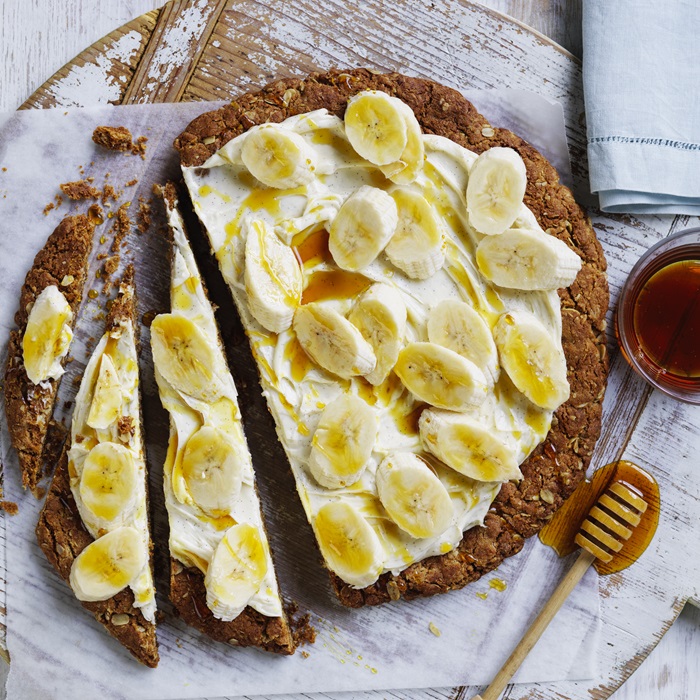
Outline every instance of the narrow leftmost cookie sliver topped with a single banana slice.
<svg viewBox="0 0 700 700">
<path fill-rule="evenodd" d="M 46 436 L 83 297 L 94 228 L 82 214 L 63 219 L 22 287 L 7 353 L 5 410 L 25 489 L 36 488 L 51 457 L 43 454 Z"/>
</svg>

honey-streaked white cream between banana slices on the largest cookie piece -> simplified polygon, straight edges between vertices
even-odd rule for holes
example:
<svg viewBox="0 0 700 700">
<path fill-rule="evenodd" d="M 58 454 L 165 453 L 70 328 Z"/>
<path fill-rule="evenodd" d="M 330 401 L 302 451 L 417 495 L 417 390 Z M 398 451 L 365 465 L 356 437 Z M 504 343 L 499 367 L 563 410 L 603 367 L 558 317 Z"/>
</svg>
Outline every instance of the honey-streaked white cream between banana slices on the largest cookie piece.
<svg viewBox="0 0 700 700">
<path fill-rule="evenodd" d="M 376 388 L 362 378 L 339 380 L 331 376 L 310 360 L 304 360 L 291 330 L 275 336 L 250 314 L 243 280 L 246 227 L 242 223 L 246 218 L 264 219 L 275 227 L 282 240 L 287 243 L 294 240 L 297 244 L 304 234 L 324 228 L 344 199 L 362 185 L 382 189 L 393 186 L 375 166 L 352 150 L 342 120 L 326 110 L 290 117 L 280 126 L 300 134 L 317 153 L 317 177 L 309 185 L 294 190 L 262 186 L 240 161 L 245 134 L 223 146 L 203 166 L 183 168 L 185 182 L 247 330 L 264 394 L 309 521 L 313 524 L 316 513 L 328 501 L 346 500 L 367 517 L 379 535 L 385 549 L 384 571 L 398 573 L 414 562 L 457 546 L 465 530 L 483 523 L 501 483 L 477 482 L 432 460 L 452 497 L 455 523 L 434 538 L 416 540 L 402 532 L 379 502 L 375 472 L 382 459 L 394 450 L 423 453 L 415 427 L 417 420 L 411 418 L 417 408 L 416 401 L 393 374 Z M 410 187 L 422 193 L 442 216 L 448 238 L 445 265 L 430 279 L 416 281 L 407 278 L 380 254 L 362 271 L 370 280 L 392 284 L 402 294 L 408 309 L 405 341 L 427 341 L 426 319 L 430 308 L 443 299 L 454 298 L 470 303 L 490 328 L 505 311 L 530 311 L 561 347 L 561 311 L 555 291 L 496 288 L 478 272 L 475 250 L 482 236 L 469 225 L 465 198 L 469 169 L 476 154 L 441 136 L 424 135 L 423 139 L 425 167 Z M 524 205 L 514 226 L 540 229 Z M 318 258 L 309 260 L 303 268 L 305 285 L 314 273 L 332 269 L 336 269 L 332 263 Z M 324 303 L 345 314 L 354 299 Z M 347 391 L 374 406 L 380 422 L 379 434 L 360 481 L 346 489 L 329 490 L 315 482 L 306 465 L 322 409 Z M 471 415 L 487 427 L 509 434 L 510 444 L 522 463 L 549 432 L 552 411 L 534 406 L 507 378 L 502 378 L 486 402 Z"/>
</svg>

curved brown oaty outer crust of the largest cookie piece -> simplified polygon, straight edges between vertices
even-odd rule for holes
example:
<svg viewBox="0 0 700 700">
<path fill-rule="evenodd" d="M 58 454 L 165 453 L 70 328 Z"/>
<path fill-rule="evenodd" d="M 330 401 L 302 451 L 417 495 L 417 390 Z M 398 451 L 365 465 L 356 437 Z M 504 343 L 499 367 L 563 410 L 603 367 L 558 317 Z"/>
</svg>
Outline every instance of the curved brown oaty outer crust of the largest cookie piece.
<svg viewBox="0 0 700 700">
<path fill-rule="evenodd" d="M 364 588 L 332 575 L 338 597 L 351 607 L 460 588 L 520 551 L 524 539 L 540 530 L 585 474 L 600 432 L 607 374 L 605 259 L 590 223 L 545 158 L 511 132 L 492 127 L 456 91 L 428 80 L 366 70 L 286 79 L 197 118 L 175 146 L 183 165 L 202 165 L 256 124 L 321 108 L 342 117 L 348 99 L 363 90 L 400 98 L 424 133 L 447 137 L 476 153 L 495 146 L 517 151 L 527 170 L 525 204 L 546 233 L 578 253 L 583 267 L 574 283 L 559 292 L 570 397 L 554 414 L 545 441 L 521 465 L 524 478 L 504 483 L 483 527 L 467 530 L 455 550 L 412 564 L 398 575 L 386 573 Z"/>
</svg>

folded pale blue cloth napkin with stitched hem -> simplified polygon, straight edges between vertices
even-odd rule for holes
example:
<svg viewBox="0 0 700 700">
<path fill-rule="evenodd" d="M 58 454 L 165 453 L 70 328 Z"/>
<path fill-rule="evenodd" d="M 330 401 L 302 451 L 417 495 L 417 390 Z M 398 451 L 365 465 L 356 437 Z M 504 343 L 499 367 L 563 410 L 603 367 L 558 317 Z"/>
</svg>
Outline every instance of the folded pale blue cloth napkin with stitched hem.
<svg viewBox="0 0 700 700">
<path fill-rule="evenodd" d="M 699 0 L 585 0 L 591 191 L 603 211 L 700 215 Z"/>
</svg>

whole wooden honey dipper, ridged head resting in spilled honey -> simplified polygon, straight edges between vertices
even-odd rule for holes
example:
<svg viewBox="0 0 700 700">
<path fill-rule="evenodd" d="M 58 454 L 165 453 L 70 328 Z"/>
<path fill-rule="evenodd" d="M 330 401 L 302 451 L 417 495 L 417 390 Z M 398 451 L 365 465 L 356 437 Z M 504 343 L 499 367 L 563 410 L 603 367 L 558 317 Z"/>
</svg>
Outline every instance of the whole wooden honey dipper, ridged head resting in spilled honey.
<svg viewBox="0 0 700 700">
<path fill-rule="evenodd" d="M 613 466 L 609 465 L 609 467 Z M 608 564 L 614 555 L 622 549 L 625 542 L 630 539 L 634 528 L 639 525 L 646 510 L 647 502 L 628 486 L 619 481 L 608 484 L 607 489 L 590 509 L 576 534 L 574 541 L 581 547 L 581 553 L 574 565 L 545 603 L 518 646 L 515 647 L 513 653 L 496 674 L 491 685 L 482 695 L 475 695 L 472 700 L 497 700 L 500 697 L 525 657 L 535 646 L 591 564 L 594 562 Z M 654 522 L 647 542 L 651 539 L 655 529 L 656 523 Z"/>
</svg>

